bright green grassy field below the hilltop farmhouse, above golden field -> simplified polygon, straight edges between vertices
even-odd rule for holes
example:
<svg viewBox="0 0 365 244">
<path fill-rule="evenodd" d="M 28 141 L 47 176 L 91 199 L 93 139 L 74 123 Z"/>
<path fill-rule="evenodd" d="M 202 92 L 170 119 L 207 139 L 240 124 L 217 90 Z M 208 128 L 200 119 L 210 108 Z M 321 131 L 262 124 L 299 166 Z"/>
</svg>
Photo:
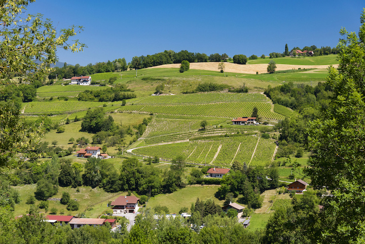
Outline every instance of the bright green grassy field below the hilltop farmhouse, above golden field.
<svg viewBox="0 0 365 244">
<path fill-rule="evenodd" d="M 305 56 L 305 57 L 283 57 L 283 58 L 258 58 L 255 60 L 248 60 L 247 64 L 269 63 L 274 60 L 277 64 L 299 64 L 299 65 L 327 65 L 337 64 L 337 54 L 322 55 L 322 56 Z"/>
</svg>

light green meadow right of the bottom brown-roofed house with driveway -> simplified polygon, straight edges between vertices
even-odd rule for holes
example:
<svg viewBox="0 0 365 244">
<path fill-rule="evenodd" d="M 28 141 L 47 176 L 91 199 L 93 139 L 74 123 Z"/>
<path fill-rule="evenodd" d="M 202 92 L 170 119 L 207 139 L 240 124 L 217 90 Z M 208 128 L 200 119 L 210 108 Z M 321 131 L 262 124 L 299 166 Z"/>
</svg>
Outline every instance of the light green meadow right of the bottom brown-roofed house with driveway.
<svg viewBox="0 0 365 244">
<path fill-rule="evenodd" d="M 212 198 L 216 204 L 223 206 L 224 200 L 219 200 L 214 197 L 220 186 L 187 186 L 169 194 L 159 194 L 151 199 L 146 204 L 147 208 L 153 208 L 156 205 L 165 205 L 168 207 L 171 214 L 176 214 L 182 207 L 188 207 L 190 212 L 191 204 L 196 202 L 197 198 L 206 200 Z"/>
</svg>

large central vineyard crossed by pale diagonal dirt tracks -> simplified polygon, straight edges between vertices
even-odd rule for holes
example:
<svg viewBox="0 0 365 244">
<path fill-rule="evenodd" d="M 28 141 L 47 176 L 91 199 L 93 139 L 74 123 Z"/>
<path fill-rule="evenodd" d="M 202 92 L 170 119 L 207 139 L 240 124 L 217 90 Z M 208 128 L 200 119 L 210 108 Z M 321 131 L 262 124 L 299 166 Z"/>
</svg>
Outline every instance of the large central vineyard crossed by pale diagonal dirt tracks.
<svg viewBox="0 0 365 244">
<path fill-rule="evenodd" d="M 187 162 L 229 166 L 233 161 L 250 162 L 252 165 L 268 165 L 275 151 L 275 143 L 253 135 L 220 136 L 195 140 L 188 143 L 156 145 L 133 150 L 145 156 L 158 156 L 171 160 L 178 155 Z M 254 149 L 256 148 L 256 151 Z M 253 155 L 253 156 L 252 156 Z"/>
</svg>

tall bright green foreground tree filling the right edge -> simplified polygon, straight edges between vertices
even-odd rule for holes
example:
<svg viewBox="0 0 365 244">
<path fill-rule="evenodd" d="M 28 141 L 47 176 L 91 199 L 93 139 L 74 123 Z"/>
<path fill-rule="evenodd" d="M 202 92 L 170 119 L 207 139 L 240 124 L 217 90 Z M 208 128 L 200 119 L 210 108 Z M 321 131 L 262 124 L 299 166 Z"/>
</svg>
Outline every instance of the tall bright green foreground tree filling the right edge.
<svg viewBox="0 0 365 244">
<path fill-rule="evenodd" d="M 364 171 L 364 59 L 365 9 L 360 30 L 340 33 L 338 72 L 330 67 L 327 84 L 334 92 L 329 108 L 309 123 L 308 142 L 313 156 L 306 173 L 315 188 L 326 186 L 333 197 L 324 197 L 320 215 L 322 242 L 359 243 L 365 230 L 362 172 Z M 325 218 L 328 216 L 327 218 Z M 324 234 L 325 233 L 325 234 Z M 346 233 L 346 234 L 345 234 Z"/>
</svg>

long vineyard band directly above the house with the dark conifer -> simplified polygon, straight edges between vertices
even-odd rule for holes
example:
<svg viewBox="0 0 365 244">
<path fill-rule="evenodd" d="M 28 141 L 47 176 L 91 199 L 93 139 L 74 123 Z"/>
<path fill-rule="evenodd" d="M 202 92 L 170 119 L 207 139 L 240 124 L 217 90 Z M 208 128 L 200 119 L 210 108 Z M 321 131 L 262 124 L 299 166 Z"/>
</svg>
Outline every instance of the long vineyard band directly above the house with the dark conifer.
<svg viewBox="0 0 365 244">
<path fill-rule="evenodd" d="M 254 107 L 258 108 L 259 116 L 263 119 L 280 120 L 284 118 L 283 115 L 271 112 L 271 104 L 266 102 L 220 102 L 176 106 L 127 105 L 120 108 L 119 111 L 232 119 L 250 116 Z"/>
</svg>

